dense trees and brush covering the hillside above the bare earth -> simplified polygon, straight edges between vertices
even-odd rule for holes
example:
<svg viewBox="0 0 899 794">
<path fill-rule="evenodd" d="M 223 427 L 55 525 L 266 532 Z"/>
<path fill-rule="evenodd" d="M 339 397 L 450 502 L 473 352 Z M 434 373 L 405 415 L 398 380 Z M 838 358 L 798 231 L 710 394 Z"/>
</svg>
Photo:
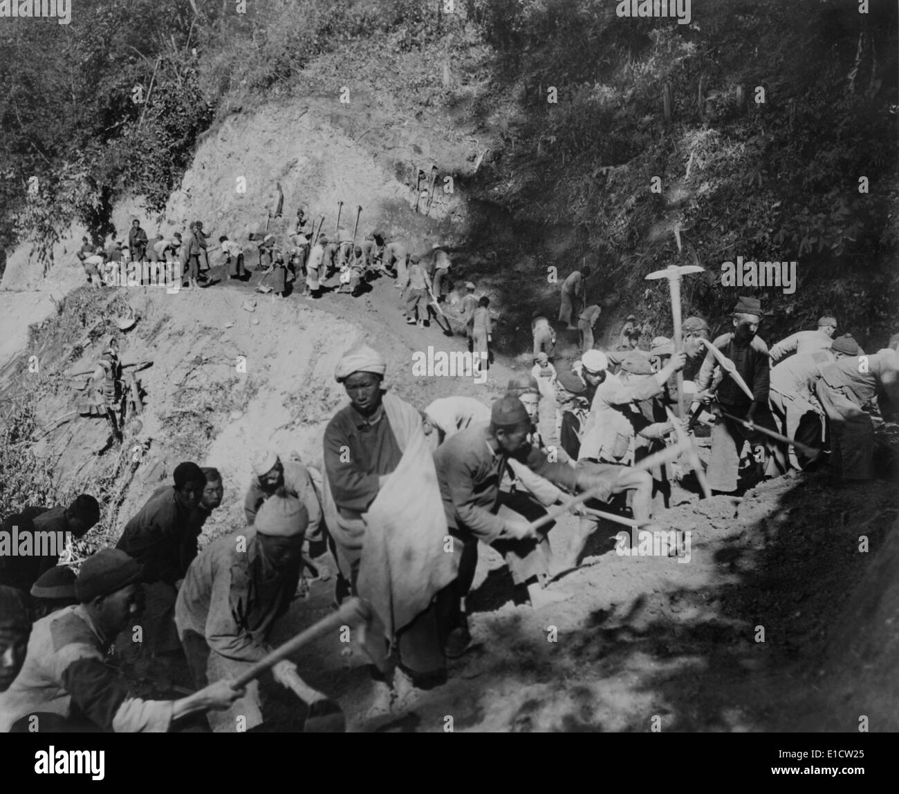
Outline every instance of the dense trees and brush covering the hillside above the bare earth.
<svg viewBox="0 0 899 794">
<path fill-rule="evenodd" d="M 340 110 L 349 86 L 369 97 L 357 135 L 387 104 L 384 123 L 490 142 L 473 175 L 450 174 L 471 202 L 458 253 L 512 273 L 524 300 L 509 313 L 550 300 L 547 266 L 587 261 L 612 303 L 667 317 L 666 287 L 643 276 L 683 260 L 708 269 L 685 300 L 715 322 L 736 292 L 721 263 L 742 256 L 798 262 L 794 294 L 739 290 L 776 310 L 769 339 L 832 311 L 866 346 L 886 340 L 895 4 L 709 0 L 690 25 L 616 5 L 83 0 L 68 26 L 6 25 L 0 243 L 30 241 L 46 267 L 72 220 L 109 234 L 125 194 L 161 212 L 198 137 L 234 110 L 311 96 Z M 377 132 L 360 146 L 377 150 Z"/>
</svg>

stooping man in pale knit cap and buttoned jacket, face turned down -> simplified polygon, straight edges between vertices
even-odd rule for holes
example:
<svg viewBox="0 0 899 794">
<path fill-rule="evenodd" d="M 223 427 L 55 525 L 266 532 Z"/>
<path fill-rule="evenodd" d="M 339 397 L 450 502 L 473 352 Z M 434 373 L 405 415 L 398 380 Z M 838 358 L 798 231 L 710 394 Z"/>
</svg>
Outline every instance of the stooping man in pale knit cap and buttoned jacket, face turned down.
<svg viewBox="0 0 899 794">
<path fill-rule="evenodd" d="M 242 675 L 271 650 L 271 630 L 297 590 L 306 526 L 306 508 L 280 490 L 260 507 L 252 527 L 218 538 L 193 560 L 178 593 L 175 622 L 198 687 Z M 273 666 L 271 675 L 286 688 L 305 690 L 307 703 L 324 697 L 303 683 L 289 659 Z M 207 719 L 216 733 L 261 726 L 258 682 Z"/>
</svg>

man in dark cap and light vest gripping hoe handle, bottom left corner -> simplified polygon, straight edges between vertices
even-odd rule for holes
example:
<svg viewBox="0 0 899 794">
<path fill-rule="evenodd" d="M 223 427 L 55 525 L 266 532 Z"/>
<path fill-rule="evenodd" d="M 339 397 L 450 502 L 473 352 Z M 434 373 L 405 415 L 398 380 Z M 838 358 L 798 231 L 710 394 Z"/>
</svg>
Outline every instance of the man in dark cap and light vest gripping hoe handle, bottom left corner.
<svg viewBox="0 0 899 794">
<path fill-rule="evenodd" d="M 79 603 L 35 622 L 19 675 L 0 694 L 0 732 L 161 733 L 190 714 L 223 709 L 242 695 L 218 681 L 176 701 L 138 698 L 106 663 L 116 635 L 138 618 L 141 569 L 118 549 L 85 560 Z"/>
</svg>

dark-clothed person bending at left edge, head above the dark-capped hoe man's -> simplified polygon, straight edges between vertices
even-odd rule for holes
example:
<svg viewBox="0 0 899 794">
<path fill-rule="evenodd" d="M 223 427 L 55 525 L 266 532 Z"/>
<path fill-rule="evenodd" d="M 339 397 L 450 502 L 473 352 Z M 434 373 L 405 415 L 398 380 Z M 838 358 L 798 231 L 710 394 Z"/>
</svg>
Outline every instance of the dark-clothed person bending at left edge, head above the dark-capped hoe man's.
<svg viewBox="0 0 899 794">
<path fill-rule="evenodd" d="M 68 507 L 25 507 L 6 516 L 0 538 L 8 538 L 10 548 L 0 540 L 0 585 L 28 593 L 40 575 L 58 563 L 67 535 L 83 538 L 99 520 L 100 505 L 88 493 Z"/>
</svg>

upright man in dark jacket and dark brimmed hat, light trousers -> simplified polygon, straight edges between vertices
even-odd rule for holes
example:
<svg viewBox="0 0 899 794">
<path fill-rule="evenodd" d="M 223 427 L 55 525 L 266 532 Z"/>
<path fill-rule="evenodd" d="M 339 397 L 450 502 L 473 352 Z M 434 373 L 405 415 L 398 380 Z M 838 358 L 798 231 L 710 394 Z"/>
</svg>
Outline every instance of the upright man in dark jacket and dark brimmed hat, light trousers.
<svg viewBox="0 0 899 794">
<path fill-rule="evenodd" d="M 717 386 L 717 403 L 725 413 L 754 422 L 760 427 L 774 429 L 768 405 L 770 384 L 770 363 L 768 346 L 757 335 L 761 322 L 761 302 L 758 298 L 740 297 L 734 306 L 734 331 L 722 334 L 713 344 L 736 367 L 736 372 L 743 376 L 743 381 L 752 392 L 752 399 L 745 393 L 732 377 L 725 375 Z M 712 400 L 708 392 L 713 375 L 720 364 L 709 350 L 706 360 L 699 370 L 696 387 L 700 401 Z M 770 445 L 767 439 L 760 438 L 759 433 L 735 422 L 719 416 L 712 428 L 712 449 L 708 459 L 708 486 L 720 493 L 733 493 L 737 490 L 740 466 L 740 452 L 745 441 L 753 446 L 758 443 L 756 460 L 761 463 L 765 475 L 777 473 L 774 457 L 767 454 Z M 761 458 L 761 460 L 760 460 Z"/>
</svg>

